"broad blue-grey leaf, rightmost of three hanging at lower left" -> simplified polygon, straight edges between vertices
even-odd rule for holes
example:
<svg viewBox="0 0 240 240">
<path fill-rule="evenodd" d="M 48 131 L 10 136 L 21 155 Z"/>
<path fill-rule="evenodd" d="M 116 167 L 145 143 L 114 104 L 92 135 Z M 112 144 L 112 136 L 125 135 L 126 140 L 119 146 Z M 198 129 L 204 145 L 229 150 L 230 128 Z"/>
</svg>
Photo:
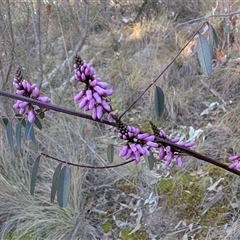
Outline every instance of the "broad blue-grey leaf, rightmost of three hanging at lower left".
<svg viewBox="0 0 240 240">
<path fill-rule="evenodd" d="M 67 206 L 71 185 L 71 169 L 65 165 L 59 175 L 57 187 L 58 205 L 62 208 Z"/>
</svg>

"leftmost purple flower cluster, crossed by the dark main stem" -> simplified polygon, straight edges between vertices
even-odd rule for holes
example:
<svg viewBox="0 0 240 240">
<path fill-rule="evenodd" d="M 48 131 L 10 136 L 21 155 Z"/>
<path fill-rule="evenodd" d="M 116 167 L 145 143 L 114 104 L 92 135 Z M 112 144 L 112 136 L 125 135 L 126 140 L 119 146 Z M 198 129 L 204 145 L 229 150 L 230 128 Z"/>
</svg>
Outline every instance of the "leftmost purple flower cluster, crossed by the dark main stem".
<svg viewBox="0 0 240 240">
<path fill-rule="evenodd" d="M 20 68 L 18 68 L 16 72 L 13 86 L 16 89 L 17 95 L 22 95 L 29 98 L 32 97 L 33 99 L 44 103 L 51 102 L 48 97 L 40 95 L 40 91 L 37 88 L 36 84 L 30 84 L 27 80 L 23 79 Z M 13 108 L 18 109 L 21 115 L 26 114 L 29 122 L 35 122 L 37 113 L 31 103 L 17 100 L 17 102 L 13 105 Z"/>
</svg>

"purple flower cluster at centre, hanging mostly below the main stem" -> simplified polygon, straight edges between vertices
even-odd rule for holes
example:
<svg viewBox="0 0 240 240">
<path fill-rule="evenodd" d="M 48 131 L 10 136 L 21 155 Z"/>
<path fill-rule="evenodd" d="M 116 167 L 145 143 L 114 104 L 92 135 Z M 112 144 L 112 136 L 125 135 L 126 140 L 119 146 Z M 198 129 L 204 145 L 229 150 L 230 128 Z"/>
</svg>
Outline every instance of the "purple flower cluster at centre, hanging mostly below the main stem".
<svg viewBox="0 0 240 240">
<path fill-rule="evenodd" d="M 140 162 L 142 155 L 150 155 L 150 147 L 158 147 L 158 144 L 154 142 L 155 136 L 140 133 L 140 130 L 133 126 L 122 125 L 118 137 L 128 141 L 119 151 L 119 156 L 125 159 L 134 159 L 136 164 Z"/>
</svg>

